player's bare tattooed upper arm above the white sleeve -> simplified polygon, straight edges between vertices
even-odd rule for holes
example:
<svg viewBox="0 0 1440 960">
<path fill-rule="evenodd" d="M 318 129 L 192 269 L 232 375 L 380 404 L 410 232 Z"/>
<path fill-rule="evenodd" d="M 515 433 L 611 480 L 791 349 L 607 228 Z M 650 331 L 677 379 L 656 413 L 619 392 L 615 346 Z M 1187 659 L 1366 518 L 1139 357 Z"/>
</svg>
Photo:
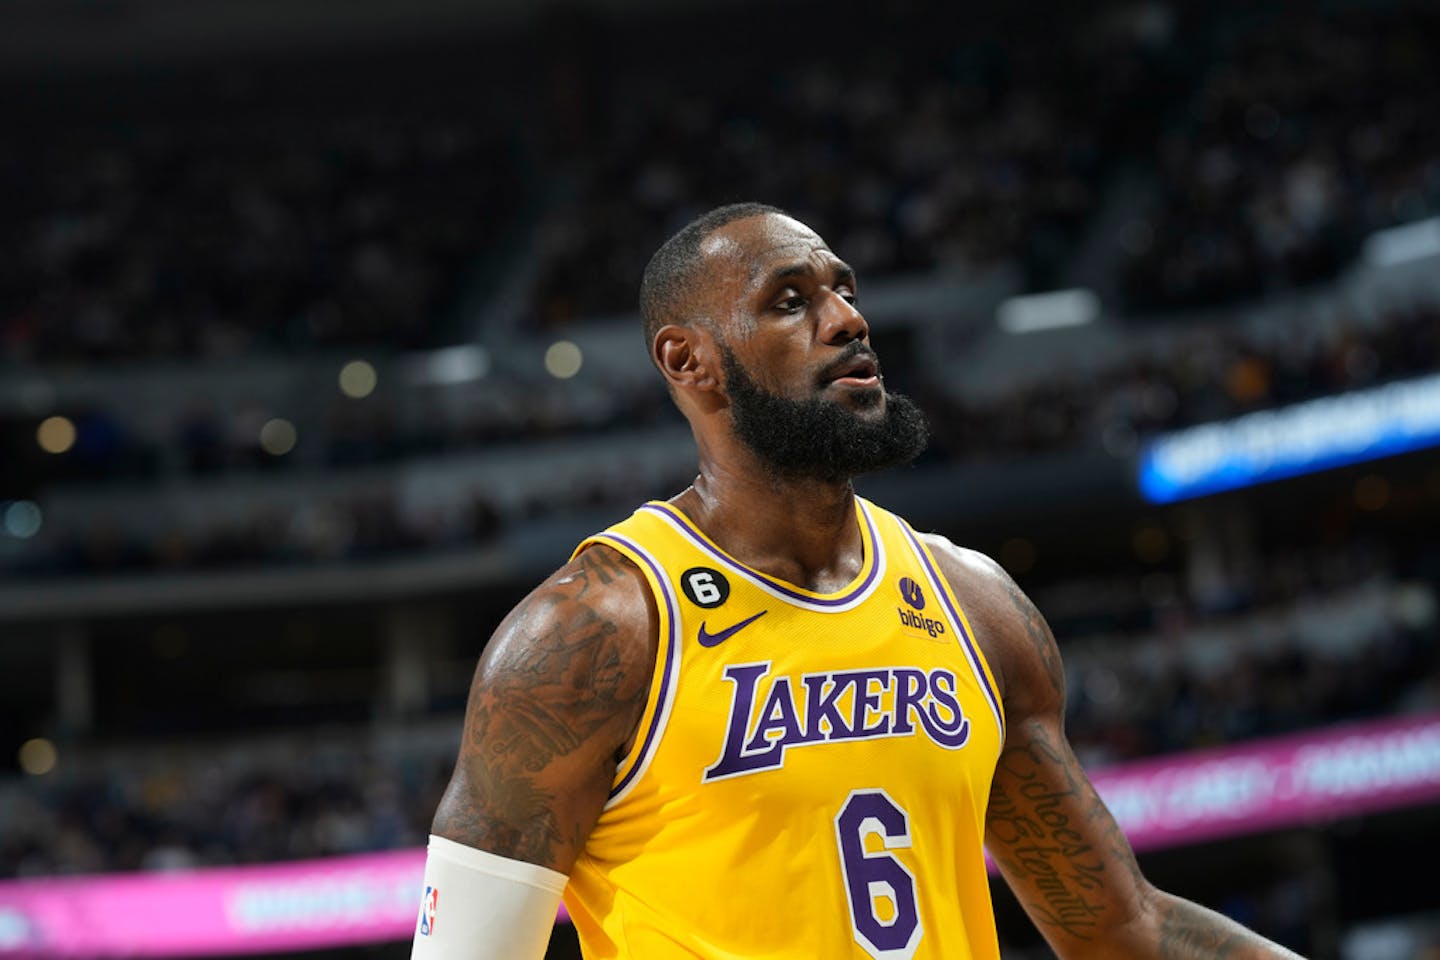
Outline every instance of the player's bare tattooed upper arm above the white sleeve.
<svg viewBox="0 0 1440 960">
<path fill-rule="evenodd" d="M 431 832 L 569 874 L 644 711 L 657 623 L 644 577 L 605 545 L 521 600 L 475 668 Z"/>
</svg>

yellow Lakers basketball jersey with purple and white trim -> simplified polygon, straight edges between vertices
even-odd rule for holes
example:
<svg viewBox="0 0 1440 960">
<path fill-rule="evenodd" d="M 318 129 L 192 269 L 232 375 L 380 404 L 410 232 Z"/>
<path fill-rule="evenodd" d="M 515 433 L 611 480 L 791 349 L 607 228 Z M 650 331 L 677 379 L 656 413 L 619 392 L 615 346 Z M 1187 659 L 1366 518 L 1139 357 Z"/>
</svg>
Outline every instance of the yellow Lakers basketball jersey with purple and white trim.
<svg viewBox="0 0 1440 960">
<path fill-rule="evenodd" d="M 588 960 L 994 960 L 994 678 L 935 557 L 857 499 L 864 569 L 814 593 L 649 502 L 580 544 L 645 574 L 660 652 L 570 874 Z"/>
</svg>

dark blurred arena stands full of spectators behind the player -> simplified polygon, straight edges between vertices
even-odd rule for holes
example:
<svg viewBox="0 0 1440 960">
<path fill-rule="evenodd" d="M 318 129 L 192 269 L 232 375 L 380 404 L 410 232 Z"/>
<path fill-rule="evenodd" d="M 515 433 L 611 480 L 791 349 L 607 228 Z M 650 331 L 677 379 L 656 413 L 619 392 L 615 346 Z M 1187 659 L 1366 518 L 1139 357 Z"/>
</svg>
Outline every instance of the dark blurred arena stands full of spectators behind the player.
<svg viewBox="0 0 1440 960">
<path fill-rule="evenodd" d="M 59 750 L 6 760 L 0 878 L 420 845 L 495 620 L 577 531 L 690 482 L 664 387 L 605 354 L 641 353 L 654 246 L 736 199 L 920 291 L 874 338 L 935 443 L 884 489 L 1045 612 L 1087 766 L 1440 708 L 1433 450 L 1164 508 L 1130 485 L 1164 432 L 1440 368 L 1436 261 L 1361 255 L 1440 212 L 1434 10 L 916 32 L 854 6 L 864 37 L 835 17 L 732 72 L 687 69 L 733 50 L 701 10 L 654 13 L 694 37 L 660 52 L 575 14 L 386 66 L 81 75 L 52 111 L 0 91 L 0 748 Z M 1067 285 L 1099 292 L 1093 340 L 999 331 L 996 296 Z M 1426 907 L 1371 882 L 1387 830 L 1434 836 L 1397 816 L 1187 855 L 1211 902 L 1341 957 L 1342 927 Z M 1007 959 L 1048 956 L 998 902 Z"/>
</svg>

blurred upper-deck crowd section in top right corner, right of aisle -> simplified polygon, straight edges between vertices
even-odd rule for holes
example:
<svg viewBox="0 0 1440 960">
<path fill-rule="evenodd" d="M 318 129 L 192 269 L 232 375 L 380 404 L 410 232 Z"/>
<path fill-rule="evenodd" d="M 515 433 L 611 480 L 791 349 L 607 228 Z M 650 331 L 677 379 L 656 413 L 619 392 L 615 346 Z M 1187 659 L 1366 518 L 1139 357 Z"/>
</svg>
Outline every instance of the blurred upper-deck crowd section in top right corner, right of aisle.
<svg viewBox="0 0 1440 960">
<path fill-rule="evenodd" d="M 1195 307 L 1333 276 L 1377 229 L 1440 212 L 1440 12 L 1251 4 L 1158 148 L 1125 232 L 1129 307 Z"/>
</svg>

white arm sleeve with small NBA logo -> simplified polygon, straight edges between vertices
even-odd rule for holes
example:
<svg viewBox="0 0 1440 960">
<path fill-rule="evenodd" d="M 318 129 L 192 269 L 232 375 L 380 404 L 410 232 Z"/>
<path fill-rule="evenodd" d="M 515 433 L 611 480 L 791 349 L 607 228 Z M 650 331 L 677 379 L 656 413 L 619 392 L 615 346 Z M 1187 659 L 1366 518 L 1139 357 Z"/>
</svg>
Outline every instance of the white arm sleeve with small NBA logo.
<svg viewBox="0 0 1440 960">
<path fill-rule="evenodd" d="M 541 960 L 564 875 L 431 835 L 410 960 Z"/>
</svg>

